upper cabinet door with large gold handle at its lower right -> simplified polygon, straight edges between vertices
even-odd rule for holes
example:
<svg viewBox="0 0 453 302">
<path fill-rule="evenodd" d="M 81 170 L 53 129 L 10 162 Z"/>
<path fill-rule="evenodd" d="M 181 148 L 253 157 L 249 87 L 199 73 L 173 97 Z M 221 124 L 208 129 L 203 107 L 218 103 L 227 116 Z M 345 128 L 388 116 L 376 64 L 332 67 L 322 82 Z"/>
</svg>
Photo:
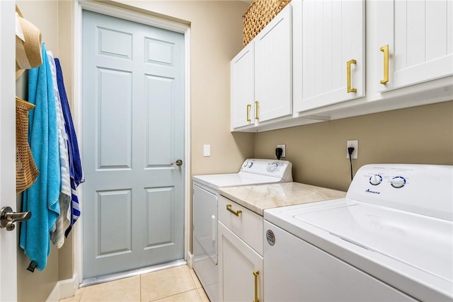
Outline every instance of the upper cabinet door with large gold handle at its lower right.
<svg viewBox="0 0 453 302">
<path fill-rule="evenodd" d="M 302 34 L 302 66 L 294 66 L 302 69 L 302 99 L 294 99 L 294 112 L 365 95 L 364 18 L 362 0 L 302 2 L 294 28 Z"/>
</svg>

